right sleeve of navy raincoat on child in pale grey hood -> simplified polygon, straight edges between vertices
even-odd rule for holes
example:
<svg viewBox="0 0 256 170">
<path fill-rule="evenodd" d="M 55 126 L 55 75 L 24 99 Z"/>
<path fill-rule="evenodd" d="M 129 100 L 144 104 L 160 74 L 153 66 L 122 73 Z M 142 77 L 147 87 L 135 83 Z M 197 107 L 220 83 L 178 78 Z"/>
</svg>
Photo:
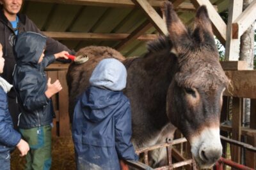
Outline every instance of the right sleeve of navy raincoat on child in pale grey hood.
<svg viewBox="0 0 256 170">
<path fill-rule="evenodd" d="M 138 160 L 131 143 L 131 107 L 129 102 L 124 104 L 124 110 L 115 118 L 115 142 L 116 151 L 120 159 Z"/>
</svg>

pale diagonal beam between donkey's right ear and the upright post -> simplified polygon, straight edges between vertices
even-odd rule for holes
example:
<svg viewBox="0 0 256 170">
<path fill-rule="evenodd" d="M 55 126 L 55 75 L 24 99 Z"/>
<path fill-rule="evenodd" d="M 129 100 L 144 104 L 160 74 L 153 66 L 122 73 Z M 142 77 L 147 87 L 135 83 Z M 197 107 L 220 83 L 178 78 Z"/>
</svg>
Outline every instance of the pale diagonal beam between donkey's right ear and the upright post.
<svg viewBox="0 0 256 170">
<path fill-rule="evenodd" d="M 212 6 L 211 2 L 209 0 L 191 0 L 191 3 L 193 3 L 196 8 L 202 5 L 207 7 L 209 18 L 212 21 L 213 32 L 220 42 L 225 45 L 227 25 L 215 10 L 214 6 Z"/>
</svg>

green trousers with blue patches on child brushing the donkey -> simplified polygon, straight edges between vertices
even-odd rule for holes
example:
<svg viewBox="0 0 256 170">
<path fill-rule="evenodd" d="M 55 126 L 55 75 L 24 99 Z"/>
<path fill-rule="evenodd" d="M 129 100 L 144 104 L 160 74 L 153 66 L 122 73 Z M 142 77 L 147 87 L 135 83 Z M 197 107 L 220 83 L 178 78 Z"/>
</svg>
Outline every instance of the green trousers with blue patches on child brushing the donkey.
<svg viewBox="0 0 256 170">
<path fill-rule="evenodd" d="M 19 129 L 22 138 L 29 144 L 26 155 L 26 170 L 51 169 L 51 125 L 31 129 Z"/>
</svg>

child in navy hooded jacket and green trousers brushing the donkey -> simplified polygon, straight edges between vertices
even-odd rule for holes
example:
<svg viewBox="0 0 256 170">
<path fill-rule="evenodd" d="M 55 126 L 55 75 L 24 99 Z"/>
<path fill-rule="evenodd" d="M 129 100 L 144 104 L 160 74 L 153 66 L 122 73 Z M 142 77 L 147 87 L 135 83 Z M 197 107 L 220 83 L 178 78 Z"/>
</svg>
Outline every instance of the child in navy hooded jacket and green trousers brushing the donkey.
<svg viewBox="0 0 256 170">
<path fill-rule="evenodd" d="M 46 40 L 36 32 L 21 32 L 14 47 L 13 87 L 20 108 L 18 126 L 30 148 L 25 169 L 51 169 L 51 97 L 62 87 L 59 80 L 47 81 L 44 68 L 60 57 L 67 59 L 68 52 L 44 55 Z"/>
</svg>

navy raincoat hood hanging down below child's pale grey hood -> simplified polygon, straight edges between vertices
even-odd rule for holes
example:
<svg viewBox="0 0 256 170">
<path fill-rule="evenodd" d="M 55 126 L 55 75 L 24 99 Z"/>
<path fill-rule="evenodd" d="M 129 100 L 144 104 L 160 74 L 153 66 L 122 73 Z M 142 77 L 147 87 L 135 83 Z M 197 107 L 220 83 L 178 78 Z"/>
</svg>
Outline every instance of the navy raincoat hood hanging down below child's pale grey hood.
<svg viewBox="0 0 256 170">
<path fill-rule="evenodd" d="M 116 112 L 122 96 L 122 92 L 90 87 L 80 98 L 82 112 L 88 120 L 99 122 Z"/>
</svg>

